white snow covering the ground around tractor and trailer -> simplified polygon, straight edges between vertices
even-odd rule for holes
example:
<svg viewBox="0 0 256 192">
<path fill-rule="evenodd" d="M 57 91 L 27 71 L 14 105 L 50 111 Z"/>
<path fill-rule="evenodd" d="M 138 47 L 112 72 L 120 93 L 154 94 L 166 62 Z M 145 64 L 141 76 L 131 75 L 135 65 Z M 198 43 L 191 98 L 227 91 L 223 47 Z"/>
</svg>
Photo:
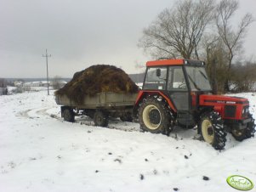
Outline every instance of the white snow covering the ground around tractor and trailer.
<svg viewBox="0 0 256 192">
<path fill-rule="evenodd" d="M 236 96 L 250 100 L 255 118 L 256 95 Z M 228 134 L 222 151 L 196 138 L 182 128 L 170 137 L 141 133 L 118 119 L 108 128 L 87 116 L 66 122 L 53 91 L 1 96 L 0 191 L 231 192 L 226 178 L 234 174 L 256 184 L 256 138 L 240 143 Z"/>
</svg>

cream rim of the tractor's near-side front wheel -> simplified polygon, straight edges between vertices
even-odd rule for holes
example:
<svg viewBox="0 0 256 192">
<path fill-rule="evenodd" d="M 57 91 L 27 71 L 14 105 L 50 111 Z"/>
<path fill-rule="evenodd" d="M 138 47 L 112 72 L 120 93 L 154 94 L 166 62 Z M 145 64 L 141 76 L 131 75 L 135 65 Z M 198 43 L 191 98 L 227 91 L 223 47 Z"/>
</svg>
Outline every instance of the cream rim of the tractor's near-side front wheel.
<svg viewBox="0 0 256 192">
<path fill-rule="evenodd" d="M 202 137 L 208 144 L 213 143 L 213 138 L 214 138 L 213 124 L 208 119 L 205 119 L 202 121 Z"/>
</svg>

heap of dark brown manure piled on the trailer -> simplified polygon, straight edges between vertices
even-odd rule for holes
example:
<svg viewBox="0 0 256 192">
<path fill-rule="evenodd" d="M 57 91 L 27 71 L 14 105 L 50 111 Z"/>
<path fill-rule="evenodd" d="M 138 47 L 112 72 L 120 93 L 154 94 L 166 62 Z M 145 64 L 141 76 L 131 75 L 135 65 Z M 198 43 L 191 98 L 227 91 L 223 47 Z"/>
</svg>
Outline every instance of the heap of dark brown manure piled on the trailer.
<svg viewBox="0 0 256 192">
<path fill-rule="evenodd" d="M 85 95 L 94 96 L 100 92 L 137 93 L 137 85 L 121 69 L 113 65 L 92 65 L 74 74 L 71 82 L 55 92 L 66 95 L 77 104 L 82 104 Z"/>
</svg>

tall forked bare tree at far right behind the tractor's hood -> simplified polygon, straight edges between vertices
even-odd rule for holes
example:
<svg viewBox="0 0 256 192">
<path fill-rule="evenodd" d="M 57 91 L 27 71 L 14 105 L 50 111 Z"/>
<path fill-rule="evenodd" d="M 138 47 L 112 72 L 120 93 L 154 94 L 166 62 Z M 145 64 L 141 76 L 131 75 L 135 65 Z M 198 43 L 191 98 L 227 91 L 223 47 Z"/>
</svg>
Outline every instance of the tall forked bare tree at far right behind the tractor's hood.
<svg viewBox="0 0 256 192">
<path fill-rule="evenodd" d="M 230 69 L 234 56 L 241 50 L 242 40 L 246 35 L 247 27 L 253 22 L 252 14 L 245 14 L 237 26 L 237 30 L 233 30 L 230 22 L 237 8 L 237 0 L 222 0 L 216 8 L 216 24 L 219 37 L 227 48 L 228 68 L 225 77 L 225 91 L 229 91 Z"/>
</svg>

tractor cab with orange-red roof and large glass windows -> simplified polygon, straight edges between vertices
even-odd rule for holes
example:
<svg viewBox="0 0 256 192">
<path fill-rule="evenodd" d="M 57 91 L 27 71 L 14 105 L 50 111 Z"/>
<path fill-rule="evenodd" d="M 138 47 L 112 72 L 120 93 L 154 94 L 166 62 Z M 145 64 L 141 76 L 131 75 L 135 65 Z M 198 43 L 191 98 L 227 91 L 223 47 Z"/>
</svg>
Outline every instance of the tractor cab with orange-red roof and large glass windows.
<svg viewBox="0 0 256 192">
<path fill-rule="evenodd" d="M 198 95 L 212 93 L 212 88 L 201 61 L 172 59 L 149 61 L 146 64 L 143 90 L 159 90 L 168 95 L 175 110 L 195 110 Z M 196 97 L 197 96 L 197 97 Z"/>
</svg>

